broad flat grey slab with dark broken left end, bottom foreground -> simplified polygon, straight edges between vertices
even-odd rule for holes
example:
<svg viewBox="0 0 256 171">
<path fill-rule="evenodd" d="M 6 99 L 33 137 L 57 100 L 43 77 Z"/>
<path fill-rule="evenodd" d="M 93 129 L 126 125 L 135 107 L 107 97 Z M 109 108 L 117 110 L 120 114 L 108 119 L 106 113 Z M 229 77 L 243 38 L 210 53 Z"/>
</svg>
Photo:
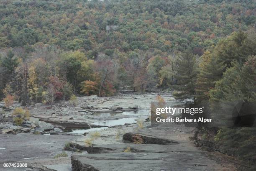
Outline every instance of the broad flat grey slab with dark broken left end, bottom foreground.
<svg viewBox="0 0 256 171">
<path fill-rule="evenodd" d="M 73 155 L 72 171 L 224 171 L 201 153 L 105 153 Z"/>
</svg>

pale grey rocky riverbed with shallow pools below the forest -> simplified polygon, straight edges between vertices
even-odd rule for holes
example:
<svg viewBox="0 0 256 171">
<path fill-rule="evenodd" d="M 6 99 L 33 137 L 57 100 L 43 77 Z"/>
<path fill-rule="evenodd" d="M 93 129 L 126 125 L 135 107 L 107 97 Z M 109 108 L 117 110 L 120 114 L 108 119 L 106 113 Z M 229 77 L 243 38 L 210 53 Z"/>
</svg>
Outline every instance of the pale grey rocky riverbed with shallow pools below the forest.
<svg viewBox="0 0 256 171">
<path fill-rule="evenodd" d="M 78 97 L 76 106 L 56 102 L 28 107 L 31 117 L 13 125 L 11 110 L 0 111 L 0 170 L 3 163 L 28 163 L 4 171 L 235 171 L 225 155 L 196 148 L 184 125 L 151 127 L 150 102 L 158 94 Z M 162 93 L 175 107 L 185 101 Z M 92 139 L 93 133 L 97 137 Z M 13 135 L 16 134 L 16 135 Z M 90 140 L 90 143 L 88 143 Z M 64 146 L 66 148 L 64 149 Z M 56 157 L 61 153 L 65 157 Z"/>
</svg>

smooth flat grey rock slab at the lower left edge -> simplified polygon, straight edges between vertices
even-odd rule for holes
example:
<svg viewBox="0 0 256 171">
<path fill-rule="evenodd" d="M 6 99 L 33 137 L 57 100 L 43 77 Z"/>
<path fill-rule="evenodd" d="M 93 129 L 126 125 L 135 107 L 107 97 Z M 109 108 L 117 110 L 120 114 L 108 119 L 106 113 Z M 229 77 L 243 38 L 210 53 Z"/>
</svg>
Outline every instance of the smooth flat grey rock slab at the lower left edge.
<svg viewBox="0 0 256 171">
<path fill-rule="evenodd" d="M 17 135 L 0 134 L 0 166 L 3 163 L 31 161 L 42 158 L 54 158 L 62 153 L 66 141 L 75 140 L 72 135 Z M 1 168 L 0 168 L 0 171 Z"/>
</svg>

